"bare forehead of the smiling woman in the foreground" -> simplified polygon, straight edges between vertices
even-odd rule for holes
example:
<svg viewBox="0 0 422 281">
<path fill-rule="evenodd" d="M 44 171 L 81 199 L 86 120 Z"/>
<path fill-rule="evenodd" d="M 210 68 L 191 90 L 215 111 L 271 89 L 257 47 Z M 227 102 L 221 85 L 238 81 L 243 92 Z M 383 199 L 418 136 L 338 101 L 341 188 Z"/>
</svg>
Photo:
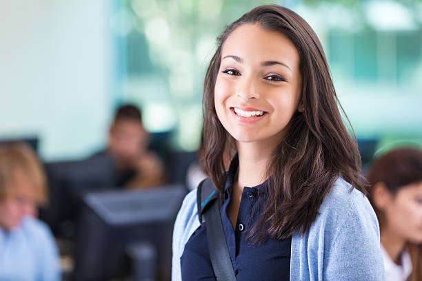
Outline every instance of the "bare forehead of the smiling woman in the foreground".
<svg viewBox="0 0 422 281">
<path fill-rule="evenodd" d="M 232 31 L 221 50 L 221 58 L 227 55 L 241 56 L 245 61 L 282 60 L 292 66 L 299 63 L 299 53 L 288 37 L 257 23 L 243 24 Z"/>
</svg>

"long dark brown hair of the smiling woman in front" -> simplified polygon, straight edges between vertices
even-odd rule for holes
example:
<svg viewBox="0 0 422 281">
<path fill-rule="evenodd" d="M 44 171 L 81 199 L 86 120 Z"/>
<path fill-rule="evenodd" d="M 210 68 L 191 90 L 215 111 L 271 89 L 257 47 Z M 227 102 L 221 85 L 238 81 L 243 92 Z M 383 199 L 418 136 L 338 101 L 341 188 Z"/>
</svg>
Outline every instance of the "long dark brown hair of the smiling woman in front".
<svg viewBox="0 0 422 281">
<path fill-rule="evenodd" d="M 218 38 L 218 48 L 205 74 L 203 86 L 203 165 L 214 185 L 223 193 L 227 174 L 226 155 L 236 152 L 235 141 L 223 128 L 214 107 L 214 86 L 219 72 L 223 43 L 240 25 L 259 24 L 265 30 L 285 35 L 299 52 L 301 103 L 285 138 L 268 161 L 268 201 L 250 237 L 256 242 L 269 236 L 283 239 L 305 231 L 334 182 L 342 176 L 365 192 L 360 174 L 361 158 L 356 138 L 348 134 L 330 70 L 318 37 L 298 14 L 281 6 L 259 6 L 228 25 Z M 340 106 L 341 107 L 341 106 Z M 343 110 L 343 109 L 342 109 Z M 269 226 L 265 231 L 265 226 Z"/>
</svg>

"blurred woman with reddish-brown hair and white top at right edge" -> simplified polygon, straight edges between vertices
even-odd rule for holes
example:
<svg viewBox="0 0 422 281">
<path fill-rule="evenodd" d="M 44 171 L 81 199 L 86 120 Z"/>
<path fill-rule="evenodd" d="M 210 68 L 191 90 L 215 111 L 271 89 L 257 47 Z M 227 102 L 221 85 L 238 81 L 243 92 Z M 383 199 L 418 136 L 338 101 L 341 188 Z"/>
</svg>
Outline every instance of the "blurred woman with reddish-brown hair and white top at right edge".
<svg viewBox="0 0 422 281">
<path fill-rule="evenodd" d="M 387 280 L 422 280 L 422 151 L 388 152 L 372 163 L 368 181 Z"/>
</svg>

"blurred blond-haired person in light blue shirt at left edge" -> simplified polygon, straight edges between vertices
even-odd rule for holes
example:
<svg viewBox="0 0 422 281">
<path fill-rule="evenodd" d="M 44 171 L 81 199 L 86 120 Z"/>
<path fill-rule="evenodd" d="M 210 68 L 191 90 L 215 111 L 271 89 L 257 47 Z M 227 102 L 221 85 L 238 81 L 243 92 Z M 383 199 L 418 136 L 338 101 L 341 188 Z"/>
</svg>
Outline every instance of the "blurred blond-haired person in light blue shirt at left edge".
<svg viewBox="0 0 422 281">
<path fill-rule="evenodd" d="M 0 280 L 60 280 L 52 233 L 37 219 L 46 176 L 24 143 L 0 145 Z"/>
</svg>

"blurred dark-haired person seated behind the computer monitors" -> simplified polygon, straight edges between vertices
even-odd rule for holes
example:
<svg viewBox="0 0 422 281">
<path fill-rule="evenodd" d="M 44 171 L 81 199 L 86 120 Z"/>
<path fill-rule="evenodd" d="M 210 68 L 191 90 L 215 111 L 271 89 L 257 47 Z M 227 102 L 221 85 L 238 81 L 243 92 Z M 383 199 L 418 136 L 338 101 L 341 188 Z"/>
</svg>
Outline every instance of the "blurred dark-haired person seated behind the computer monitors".
<svg viewBox="0 0 422 281">
<path fill-rule="evenodd" d="M 138 107 L 119 107 L 108 132 L 108 147 L 97 154 L 113 158 L 115 187 L 136 189 L 165 183 L 165 167 L 149 144 L 150 134 L 143 127 Z"/>
</svg>

